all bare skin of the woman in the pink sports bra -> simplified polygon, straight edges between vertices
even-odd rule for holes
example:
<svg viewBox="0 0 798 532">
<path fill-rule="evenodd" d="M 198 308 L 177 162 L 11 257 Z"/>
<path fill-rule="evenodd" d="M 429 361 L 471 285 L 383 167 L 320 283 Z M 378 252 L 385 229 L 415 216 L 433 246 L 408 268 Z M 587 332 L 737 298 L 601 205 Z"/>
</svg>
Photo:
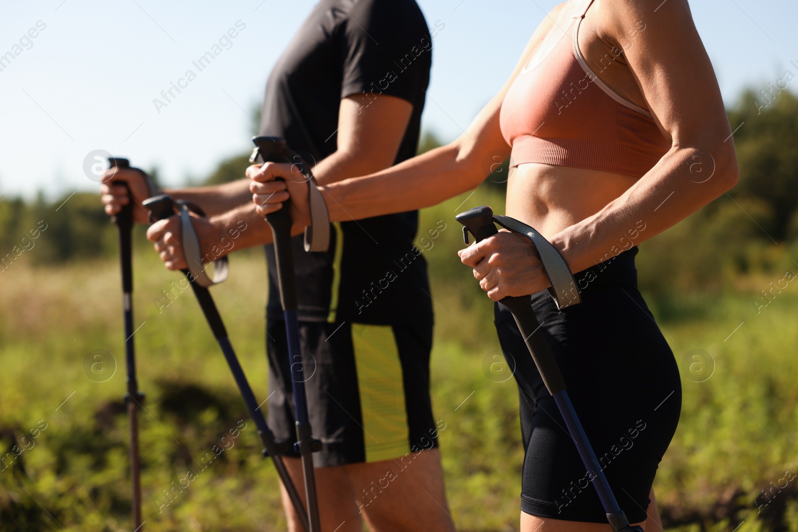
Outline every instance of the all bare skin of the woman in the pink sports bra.
<svg viewBox="0 0 798 532">
<path fill-rule="evenodd" d="M 508 180 L 506 214 L 535 227 L 563 254 L 573 272 L 619 253 L 618 242 L 638 221 L 646 224 L 646 231 L 638 234 L 635 244 L 665 231 L 737 183 L 737 157 L 721 93 L 689 6 L 685 0 L 668 0 L 657 8 L 658 4 L 597 0 L 579 29 L 579 43 L 589 64 L 612 46 L 624 50 L 616 65 L 599 77 L 654 116 L 671 141 L 670 151 L 640 179 L 583 168 L 522 164 Z M 567 27 L 563 6 L 552 10 L 535 30 L 504 88 L 463 136 L 388 170 L 322 187 L 331 219 L 362 219 L 429 207 L 479 185 L 485 178 L 484 161 L 492 152 L 509 152 L 499 128 L 504 95 L 547 35 L 559 36 L 560 28 Z M 638 33 L 632 45 L 627 37 L 641 20 L 646 30 Z M 290 197 L 294 230 L 299 232 L 309 223 L 306 190 L 301 177 L 291 175 L 290 167 L 253 165 L 247 177 L 260 214 L 278 210 Z M 275 181 L 277 177 L 286 181 Z M 502 231 L 459 254 L 494 301 L 535 294 L 549 286 L 531 244 L 517 234 Z M 650 506 L 650 518 L 641 523 L 646 530 L 660 530 L 655 513 L 656 506 Z M 606 524 L 522 514 L 521 530 L 609 529 Z"/>
</svg>

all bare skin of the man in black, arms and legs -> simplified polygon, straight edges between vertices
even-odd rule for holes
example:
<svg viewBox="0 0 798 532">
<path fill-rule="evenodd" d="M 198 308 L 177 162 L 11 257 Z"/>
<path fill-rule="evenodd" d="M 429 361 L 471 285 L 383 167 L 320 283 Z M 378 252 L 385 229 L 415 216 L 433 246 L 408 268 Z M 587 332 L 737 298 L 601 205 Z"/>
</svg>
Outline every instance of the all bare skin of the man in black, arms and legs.
<svg viewBox="0 0 798 532">
<path fill-rule="evenodd" d="M 337 150 L 314 167 L 319 183 L 334 183 L 349 175 L 358 175 L 388 167 L 396 160 L 401 139 L 409 123 L 413 106 L 400 98 L 381 96 L 370 100 L 369 107 L 361 112 L 359 97 L 341 100 L 339 108 Z M 386 125 L 389 124 L 389 125 Z M 132 192 L 136 207 L 136 223 L 148 223 L 147 211 L 140 203 L 148 197 L 144 179 L 136 171 L 109 170 L 101 185 L 101 198 L 105 212 L 114 215 L 129 201 L 120 185 L 113 181 L 124 180 Z M 203 256 L 214 246 L 219 246 L 227 231 L 239 222 L 247 223 L 235 239 L 235 250 L 271 242 L 271 229 L 263 216 L 255 212 L 251 203 L 249 181 L 240 179 L 214 187 L 168 190 L 176 199 L 186 199 L 199 204 L 208 218 L 196 217 L 192 221 Z M 301 232 L 302 229 L 298 229 Z M 176 217 L 152 224 L 147 238 L 155 245 L 160 259 L 169 270 L 187 267 L 180 246 L 180 223 Z M 285 457 L 291 479 L 304 495 L 302 464 L 299 459 Z M 375 479 L 385 477 L 385 471 L 396 467 L 393 460 L 373 463 L 354 463 L 337 467 L 316 469 L 319 493 L 321 532 L 361 532 L 362 521 L 369 523 L 375 532 L 393 530 L 437 530 L 453 532 L 454 525 L 448 515 L 440 452 L 437 449 L 420 451 L 413 461 L 413 469 L 404 471 L 390 483 L 389 495 L 359 507 L 357 501 L 362 491 L 369 490 Z M 426 491 L 426 493 L 425 493 Z M 289 532 L 301 532 L 290 499 L 283 489 L 283 507 L 288 516 Z M 404 500 L 408 504 L 396 504 Z M 368 499 L 361 504 L 366 504 Z"/>
</svg>

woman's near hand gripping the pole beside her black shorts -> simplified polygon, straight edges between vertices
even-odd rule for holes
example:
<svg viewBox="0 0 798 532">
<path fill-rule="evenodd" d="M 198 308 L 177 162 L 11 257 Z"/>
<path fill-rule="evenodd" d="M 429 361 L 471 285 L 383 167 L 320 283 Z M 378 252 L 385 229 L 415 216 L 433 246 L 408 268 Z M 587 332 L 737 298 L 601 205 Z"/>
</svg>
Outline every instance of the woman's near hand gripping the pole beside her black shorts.
<svg viewBox="0 0 798 532">
<path fill-rule="evenodd" d="M 457 254 L 463 264 L 474 269 L 480 288 L 493 301 L 535 294 L 551 286 L 535 246 L 520 234 L 502 230 Z"/>
</svg>

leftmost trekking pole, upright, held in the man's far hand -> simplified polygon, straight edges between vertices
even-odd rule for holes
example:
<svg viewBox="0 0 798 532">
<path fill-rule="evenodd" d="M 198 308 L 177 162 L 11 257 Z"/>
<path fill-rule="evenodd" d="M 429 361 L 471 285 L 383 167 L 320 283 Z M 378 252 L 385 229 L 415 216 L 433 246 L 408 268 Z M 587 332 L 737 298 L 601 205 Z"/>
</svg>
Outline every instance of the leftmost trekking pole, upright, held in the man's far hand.
<svg viewBox="0 0 798 532">
<path fill-rule="evenodd" d="M 112 168 L 129 168 L 127 159 L 109 158 Z M 122 185 L 128 194 L 128 204 L 123 205 L 113 223 L 119 230 L 119 262 L 122 268 L 122 309 L 124 313 L 124 361 L 127 367 L 127 393 L 124 403 L 128 408 L 130 421 L 130 477 L 132 479 L 132 511 L 134 530 L 141 530 L 141 478 L 139 468 L 139 420 L 138 407 L 144 401 L 144 394 L 139 392 L 136 380 L 136 353 L 133 346 L 133 270 L 132 270 L 132 229 L 133 229 L 133 196 L 124 181 L 113 181 L 111 184 Z"/>
</svg>

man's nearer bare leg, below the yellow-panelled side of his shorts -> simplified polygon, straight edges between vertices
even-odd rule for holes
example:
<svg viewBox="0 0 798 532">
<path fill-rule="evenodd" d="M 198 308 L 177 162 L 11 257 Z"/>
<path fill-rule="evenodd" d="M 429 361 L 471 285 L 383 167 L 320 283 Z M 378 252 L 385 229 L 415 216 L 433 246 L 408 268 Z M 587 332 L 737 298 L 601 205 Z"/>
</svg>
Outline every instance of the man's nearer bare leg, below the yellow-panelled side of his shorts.
<svg viewBox="0 0 798 532">
<path fill-rule="evenodd" d="M 454 532 L 437 449 L 344 467 L 373 532 Z"/>
</svg>

